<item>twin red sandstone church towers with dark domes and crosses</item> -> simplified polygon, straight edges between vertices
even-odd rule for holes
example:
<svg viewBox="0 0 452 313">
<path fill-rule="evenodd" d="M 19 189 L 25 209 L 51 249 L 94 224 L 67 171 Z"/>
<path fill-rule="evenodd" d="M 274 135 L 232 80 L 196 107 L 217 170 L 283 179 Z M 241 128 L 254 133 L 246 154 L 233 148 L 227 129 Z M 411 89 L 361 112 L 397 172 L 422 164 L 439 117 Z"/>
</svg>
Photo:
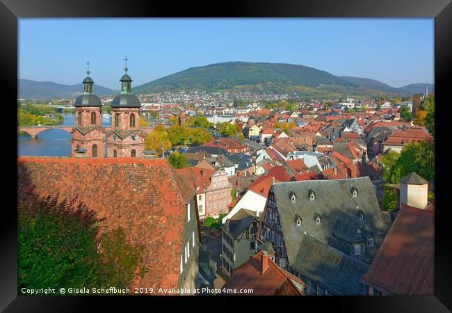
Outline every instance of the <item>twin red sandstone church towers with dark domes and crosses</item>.
<svg viewBox="0 0 452 313">
<path fill-rule="evenodd" d="M 145 133 L 140 130 L 141 104 L 131 93 L 127 57 L 124 60 L 121 93 L 111 102 L 111 127 L 102 127 L 102 103 L 92 91 L 94 81 L 88 67 L 88 77 L 83 79 L 83 95 L 77 97 L 74 104 L 73 157 L 143 157 Z"/>
</svg>

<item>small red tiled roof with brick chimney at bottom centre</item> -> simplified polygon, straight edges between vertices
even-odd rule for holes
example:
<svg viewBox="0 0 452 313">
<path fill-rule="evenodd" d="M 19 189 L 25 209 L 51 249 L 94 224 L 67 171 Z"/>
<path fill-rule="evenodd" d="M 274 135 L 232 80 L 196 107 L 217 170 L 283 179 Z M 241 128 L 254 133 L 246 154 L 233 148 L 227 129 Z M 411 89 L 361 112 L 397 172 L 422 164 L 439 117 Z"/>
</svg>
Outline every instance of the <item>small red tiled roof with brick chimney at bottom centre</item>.
<svg viewBox="0 0 452 313">
<path fill-rule="evenodd" d="M 234 270 L 229 280 L 223 286 L 225 289 L 252 289 L 253 296 L 272 296 L 275 294 L 291 294 L 302 296 L 296 287 L 296 282 L 305 283 L 291 273 L 279 268 L 270 258 L 268 266 L 262 272 L 262 253 L 252 256 L 247 262 Z M 234 294 L 246 295 L 246 294 Z"/>
</svg>

